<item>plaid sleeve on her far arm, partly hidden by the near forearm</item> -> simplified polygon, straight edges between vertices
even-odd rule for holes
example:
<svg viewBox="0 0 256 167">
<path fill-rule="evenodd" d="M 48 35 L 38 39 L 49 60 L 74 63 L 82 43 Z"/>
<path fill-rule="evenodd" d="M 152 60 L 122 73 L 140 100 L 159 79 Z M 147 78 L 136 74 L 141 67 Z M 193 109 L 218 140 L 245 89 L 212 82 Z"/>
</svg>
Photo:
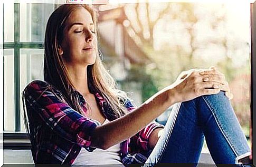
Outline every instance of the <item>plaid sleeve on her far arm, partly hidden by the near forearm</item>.
<svg viewBox="0 0 256 167">
<path fill-rule="evenodd" d="M 130 99 L 126 100 L 125 106 L 129 112 L 136 109 L 136 106 L 132 104 Z M 164 128 L 164 126 L 156 121 L 152 121 L 145 128 L 141 129 L 137 134 L 131 137 L 129 150 L 131 152 L 151 151 L 148 145 L 149 136 L 156 128 Z"/>
</svg>

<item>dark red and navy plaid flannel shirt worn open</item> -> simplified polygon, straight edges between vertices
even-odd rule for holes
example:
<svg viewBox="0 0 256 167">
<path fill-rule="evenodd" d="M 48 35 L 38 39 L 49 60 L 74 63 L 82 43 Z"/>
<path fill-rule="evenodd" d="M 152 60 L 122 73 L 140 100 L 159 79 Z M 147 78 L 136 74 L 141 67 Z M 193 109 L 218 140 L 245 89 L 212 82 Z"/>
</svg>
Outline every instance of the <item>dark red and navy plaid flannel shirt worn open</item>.
<svg viewBox="0 0 256 167">
<path fill-rule="evenodd" d="M 24 100 L 29 119 L 30 140 L 34 163 L 38 164 L 72 164 L 81 148 L 93 151 L 91 135 L 100 126 L 100 122 L 84 117 L 73 110 L 67 102 L 57 98 L 61 95 L 55 89 L 46 89 L 49 83 L 41 80 L 32 81 L 25 88 Z M 78 91 L 76 91 L 79 93 Z M 107 110 L 105 99 L 95 93 L 100 110 Z M 59 97 L 59 96 L 58 96 Z M 79 93 L 80 104 L 86 111 L 86 102 Z M 128 111 L 135 109 L 130 100 L 125 107 Z M 122 142 L 120 156 L 123 164 L 145 163 L 152 150 L 148 147 L 148 139 L 156 128 L 163 125 L 153 121 L 136 135 Z"/>
</svg>

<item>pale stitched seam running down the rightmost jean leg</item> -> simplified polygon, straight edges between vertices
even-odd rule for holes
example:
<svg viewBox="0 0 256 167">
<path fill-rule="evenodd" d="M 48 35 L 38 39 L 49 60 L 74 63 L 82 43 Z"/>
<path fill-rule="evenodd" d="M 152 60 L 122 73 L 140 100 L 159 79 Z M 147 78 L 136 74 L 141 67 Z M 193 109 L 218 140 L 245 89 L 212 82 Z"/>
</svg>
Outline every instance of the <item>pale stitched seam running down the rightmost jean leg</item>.
<svg viewBox="0 0 256 167">
<path fill-rule="evenodd" d="M 213 117 L 214 117 L 214 119 L 217 123 L 217 126 L 220 128 L 220 131 L 222 132 L 222 134 L 223 134 L 224 138 L 226 139 L 227 143 L 229 143 L 229 145 L 230 145 L 231 149 L 233 150 L 233 152 L 235 153 L 235 155 L 238 156 L 238 153 L 236 152 L 236 149 L 235 149 L 234 145 L 232 143 L 230 143 L 230 141 L 227 139 L 227 137 L 229 137 L 229 135 L 226 134 L 226 132 L 222 129 L 222 124 L 220 123 L 218 117 L 215 115 L 215 112 L 214 112 L 213 107 L 211 106 L 211 103 L 208 102 L 207 98 L 205 98 L 205 97 L 202 97 L 202 98 L 204 99 L 208 108 L 212 111 Z"/>
</svg>

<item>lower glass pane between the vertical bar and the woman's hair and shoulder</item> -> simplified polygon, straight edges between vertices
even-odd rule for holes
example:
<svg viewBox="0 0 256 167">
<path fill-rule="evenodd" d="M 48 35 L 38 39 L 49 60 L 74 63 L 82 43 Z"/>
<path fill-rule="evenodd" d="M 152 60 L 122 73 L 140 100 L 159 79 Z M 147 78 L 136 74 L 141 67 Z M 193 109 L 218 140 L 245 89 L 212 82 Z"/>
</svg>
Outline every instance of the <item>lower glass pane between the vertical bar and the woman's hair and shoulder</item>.
<svg viewBox="0 0 256 167">
<path fill-rule="evenodd" d="M 43 80 L 44 49 L 21 49 L 20 75 L 21 95 L 25 86 L 35 79 Z M 21 131 L 25 132 L 23 119 L 23 105 L 21 99 Z"/>
</svg>

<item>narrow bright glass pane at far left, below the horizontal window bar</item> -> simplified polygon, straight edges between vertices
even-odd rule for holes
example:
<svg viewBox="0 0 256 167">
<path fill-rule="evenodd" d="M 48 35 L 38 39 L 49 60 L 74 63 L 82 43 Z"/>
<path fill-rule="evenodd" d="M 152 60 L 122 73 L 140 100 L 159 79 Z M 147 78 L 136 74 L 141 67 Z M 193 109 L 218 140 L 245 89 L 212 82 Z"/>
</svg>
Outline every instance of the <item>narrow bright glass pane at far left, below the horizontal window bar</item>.
<svg viewBox="0 0 256 167">
<path fill-rule="evenodd" d="M 4 131 L 14 131 L 14 56 L 4 49 Z"/>
</svg>

